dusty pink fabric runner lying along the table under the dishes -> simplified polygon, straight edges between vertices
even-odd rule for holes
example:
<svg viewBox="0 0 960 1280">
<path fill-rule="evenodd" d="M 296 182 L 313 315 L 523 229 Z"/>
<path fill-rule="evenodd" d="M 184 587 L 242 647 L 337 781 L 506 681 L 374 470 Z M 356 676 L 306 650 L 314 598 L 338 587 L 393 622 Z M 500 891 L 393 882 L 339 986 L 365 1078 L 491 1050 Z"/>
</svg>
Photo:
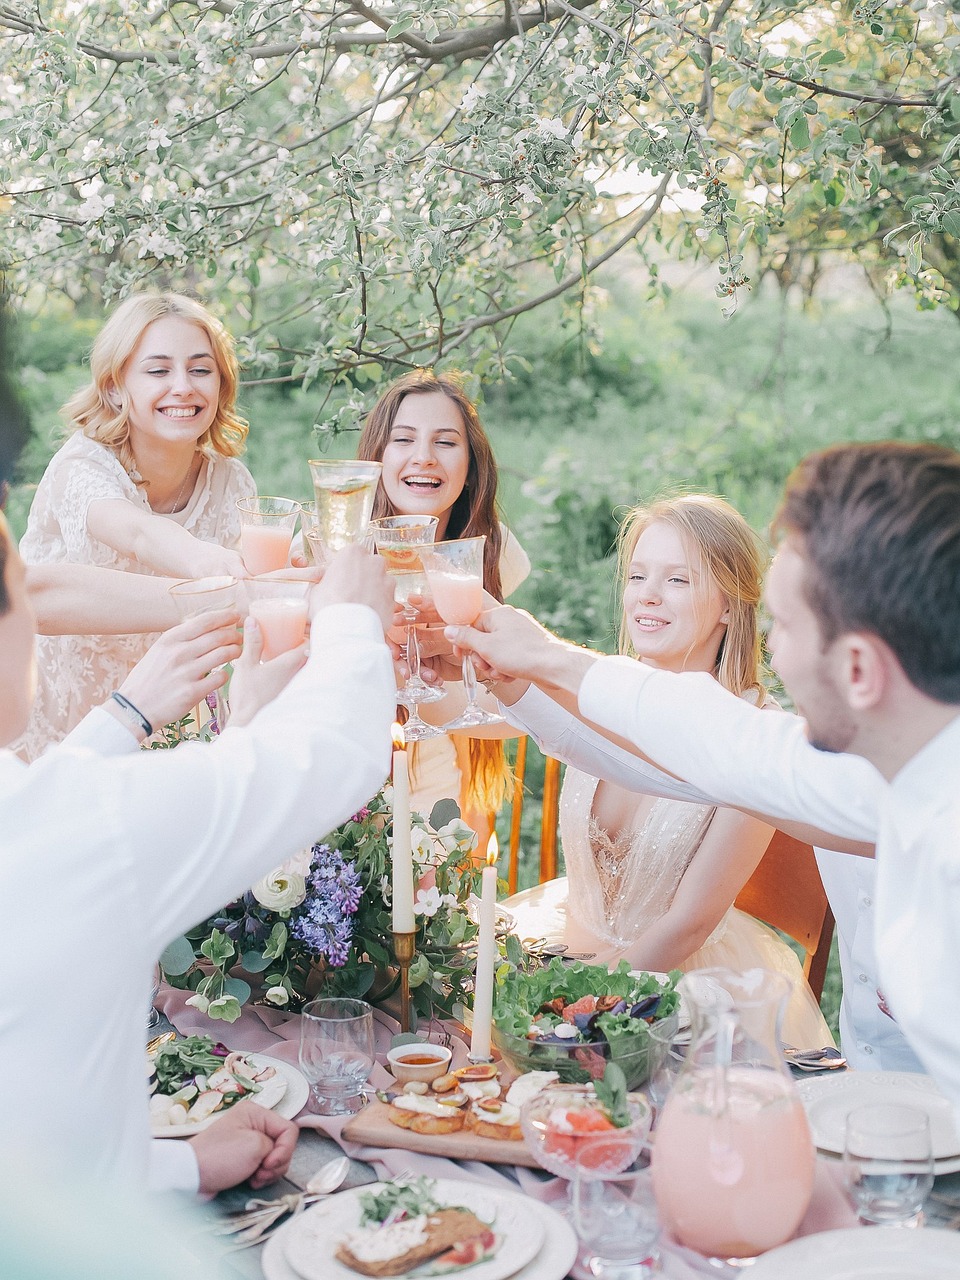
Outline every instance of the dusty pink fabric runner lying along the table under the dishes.
<svg viewBox="0 0 960 1280">
<path fill-rule="evenodd" d="M 236 1023 L 211 1023 L 209 1018 L 186 1004 L 188 995 L 189 992 L 161 986 L 156 1000 L 157 1009 L 166 1015 L 180 1034 L 223 1036 L 229 1042 L 230 1048 L 247 1050 L 251 1053 L 269 1053 L 271 1057 L 297 1066 L 300 1052 L 300 1016 L 297 1014 L 288 1014 L 282 1009 L 270 1009 L 264 1005 L 248 1005 Z M 399 1027 L 393 1018 L 379 1009 L 374 1010 L 378 1059 L 370 1075 L 370 1083 L 374 1088 L 389 1088 L 393 1084 L 393 1076 L 387 1070 L 385 1062 L 390 1041 L 398 1030 Z M 429 1034 L 429 1029 L 424 1030 Z M 452 1065 L 454 1068 L 466 1066 L 467 1046 L 463 1041 L 445 1033 L 440 1024 L 435 1024 L 434 1030 L 438 1033 L 434 1038 L 445 1034 L 453 1050 Z M 352 1160 L 364 1160 L 372 1165 L 381 1179 L 397 1178 L 402 1174 L 415 1176 L 425 1174 L 429 1178 L 454 1178 L 461 1181 L 477 1181 L 509 1190 L 520 1188 L 525 1194 L 544 1203 L 556 1203 L 563 1210 L 568 1208 L 567 1183 L 561 1178 L 545 1178 L 538 1170 L 515 1165 L 486 1165 L 471 1160 L 453 1161 L 443 1156 L 422 1156 L 399 1148 L 365 1147 L 343 1137 L 340 1130 L 346 1123 L 347 1117 L 316 1116 L 307 1111 L 302 1111 L 297 1116 L 297 1124 L 302 1129 L 316 1129 L 333 1138 Z M 813 1235 L 817 1231 L 840 1230 L 855 1225 L 856 1219 L 840 1185 L 840 1166 L 835 1162 L 818 1160 L 813 1199 L 797 1235 Z M 700 1276 L 713 1276 L 714 1280 L 718 1280 L 723 1275 L 728 1275 L 732 1280 L 733 1276 L 740 1275 L 733 1267 L 712 1266 L 699 1253 L 667 1239 L 662 1242 L 662 1275 L 667 1280 L 696 1280 Z M 588 1280 L 589 1277 L 589 1272 L 580 1265 L 575 1266 L 571 1275 L 576 1280 Z"/>
</svg>

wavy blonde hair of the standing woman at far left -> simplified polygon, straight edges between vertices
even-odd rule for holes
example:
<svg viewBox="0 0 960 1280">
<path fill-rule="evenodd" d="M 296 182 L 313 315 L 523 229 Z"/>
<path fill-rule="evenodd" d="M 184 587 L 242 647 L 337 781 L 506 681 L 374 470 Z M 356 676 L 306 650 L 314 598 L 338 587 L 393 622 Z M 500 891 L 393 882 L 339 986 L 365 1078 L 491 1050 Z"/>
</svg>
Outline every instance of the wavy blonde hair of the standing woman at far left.
<svg viewBox="0 0 960 1280">
<path fill-rule="evenodd" d="M 178 316 L 204 330 L 220 372 L 216 417 L 197 442 L 197 448 L 207 454 L 236 458 L 243 452 L 250 430 L 237 413 L 239 365 L 233 338 L 224 325 L 202 303 L 183 293 L 134 293 L 120 303 L 97 334 L 90 353 L 90 385 L 72 396 L 60 412 L 67 420 L 68 433 L 83 431 L 91 440 L 113 449 L 123 468 L 138 484 L 142 481 L 129 443 L 129 403 L 123 376 L 145 332 L 165 316 Z M 119 394 L 119 406 L 110 402 L 111 394 Z"/>
</svg>

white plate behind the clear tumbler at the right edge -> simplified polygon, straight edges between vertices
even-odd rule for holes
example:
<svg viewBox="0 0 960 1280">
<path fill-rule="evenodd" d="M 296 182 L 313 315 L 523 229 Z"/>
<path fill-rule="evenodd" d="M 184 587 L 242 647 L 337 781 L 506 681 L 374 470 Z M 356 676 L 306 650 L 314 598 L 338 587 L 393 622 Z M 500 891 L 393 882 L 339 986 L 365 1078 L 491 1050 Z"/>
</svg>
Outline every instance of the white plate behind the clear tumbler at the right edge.
<svg viewBox="0 0 960 1280">
<path fill-rule="evenodd" d="M 954 1111 L 929 1075 L 911 1071 L 844 1071 L 797 1080 L 806 1107 L 813 1140 L 820 1151 L 844 1153 L 846 1117 L 854 1107 L 876 1102 L 899 1102 L 925 1111 L 937 1172 L 947 1172 L 942 1161 L 960 1157 L 960 1138 Z"/>
</svg>

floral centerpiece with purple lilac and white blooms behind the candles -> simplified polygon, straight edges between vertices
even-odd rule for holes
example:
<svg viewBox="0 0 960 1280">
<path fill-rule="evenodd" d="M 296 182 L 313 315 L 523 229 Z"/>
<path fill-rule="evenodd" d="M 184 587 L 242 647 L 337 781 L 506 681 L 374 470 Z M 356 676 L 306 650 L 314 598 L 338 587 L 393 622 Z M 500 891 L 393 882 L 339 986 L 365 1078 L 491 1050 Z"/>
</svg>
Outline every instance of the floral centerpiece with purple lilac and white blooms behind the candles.
<svg viewBox="0 0 960 1280">
<path fill-rule="evenodd" d="M 234 1021 L 255 980 L 261 1002 L 293 1010 L 321 992 L 365 1000 L 392 993 L 392 794 L 385 786 L 312 849 L 166 948 L 164 975 L 193 992 L 187 1004 Z M 470 1002 L 474 978 L 476 835 L 454 801 L 443 800 L 429 822 L 413 814 L 411 845 L 420 878 L 413 1007 L 421 1018 L 452 1015 Z"/>
</svg>

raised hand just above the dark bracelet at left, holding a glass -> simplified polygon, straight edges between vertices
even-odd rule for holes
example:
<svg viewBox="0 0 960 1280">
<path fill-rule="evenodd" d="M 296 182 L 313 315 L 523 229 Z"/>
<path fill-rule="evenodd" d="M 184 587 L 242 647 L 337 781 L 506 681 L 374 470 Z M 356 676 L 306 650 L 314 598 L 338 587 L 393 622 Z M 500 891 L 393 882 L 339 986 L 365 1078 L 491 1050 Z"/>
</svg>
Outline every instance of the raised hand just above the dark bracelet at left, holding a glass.
<svg viewBox="0 0 960 1280">
<path fill-rule="evenodd" d="M 198 613 L 165 631 L 120 685 L 154 728 L 183 719 L 227 682 L 219 668 L 239 657 L 239 613 Z M 124 721 L 127 723 L 127 721 Z"/>
</svg>

